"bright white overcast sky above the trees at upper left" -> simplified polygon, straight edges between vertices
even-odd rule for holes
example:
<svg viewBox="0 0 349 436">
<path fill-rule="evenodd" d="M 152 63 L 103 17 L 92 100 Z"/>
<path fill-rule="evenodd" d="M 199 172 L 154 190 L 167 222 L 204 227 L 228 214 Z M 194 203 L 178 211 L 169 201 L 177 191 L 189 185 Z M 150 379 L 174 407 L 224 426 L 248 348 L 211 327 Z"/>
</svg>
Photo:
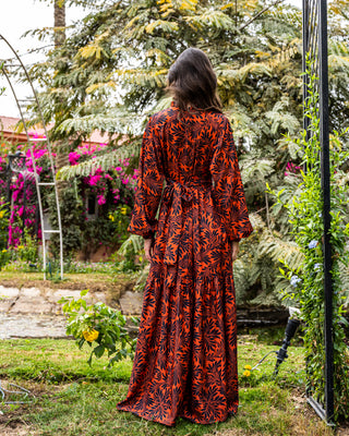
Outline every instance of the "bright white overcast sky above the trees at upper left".
<svg viewBox="0 0 349 436">
<path fill-rule="evenodd" d="M 2 0 L 4 2 L 4 0 Z M 289 3 L 299 8 L 302 0 L 288 0 Z M 86 12 L 79 8 L 67 8 L 67 22 L 82 19 Z M 21 55 L 25 64 L 35 62 L 37 55 L 27 55 L 27 51 L 46 45 L 45 41 L 37 41 L 37 38 L 21 38 L 28 29 L 39 27 L 51 27 L 53 25 L 53 7 L 38 0 L 8 0 L 1 8 L 0 14 L 0 34 L 9 40 L 13 48 Z M 12 57 L 7 46 L 0 40 L 0 59 Z M 7 83 L 0 77 L 0 86 Z M 16 87 L 20 98 L 27 95 L 26 88 Z M 0 116 L 17 117 L 19 110 L 10 90 L 0 96 Z"/>
</svg>

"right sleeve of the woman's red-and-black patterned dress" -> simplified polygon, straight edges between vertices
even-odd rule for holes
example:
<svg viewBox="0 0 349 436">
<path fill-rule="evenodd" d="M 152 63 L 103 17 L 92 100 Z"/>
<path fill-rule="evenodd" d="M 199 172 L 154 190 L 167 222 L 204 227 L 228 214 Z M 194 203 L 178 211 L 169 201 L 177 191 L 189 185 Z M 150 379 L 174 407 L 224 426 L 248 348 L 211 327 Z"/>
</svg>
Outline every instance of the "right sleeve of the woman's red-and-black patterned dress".
<svg viewBox="0 0 349 436">
<path fill-rule="evenodd" d="M 253 231 L 241 181 L 237 150 L 228 119 L 219 136 L 210 164 L 213 197 L 228 238 L 240 241 Z"/>
</svg>

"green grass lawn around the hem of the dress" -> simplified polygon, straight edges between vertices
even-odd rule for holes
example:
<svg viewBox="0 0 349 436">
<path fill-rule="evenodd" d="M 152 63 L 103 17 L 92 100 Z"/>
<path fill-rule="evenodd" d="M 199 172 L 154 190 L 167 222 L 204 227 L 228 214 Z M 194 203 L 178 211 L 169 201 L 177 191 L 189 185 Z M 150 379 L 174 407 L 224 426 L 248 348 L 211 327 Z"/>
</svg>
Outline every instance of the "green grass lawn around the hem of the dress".
<svg viewBox="0 0 349 436">
<path fill-rule="evenodd" d="M 306 405 L 301 347 L 289 348 L 289 359 L 273 378 L 275 354 L 251 376 L 267 352 L 278 350 L 256 335 L 239 337 L 240 409 L 227 422 L 198 425 L 178 420 L 165 427 L 116 410 L 127 393 L 132 362 L 106 368 L 107 360 L 87 363 L 88 347 L 80 351 L 70 340 L 3 340 L 0 343 L 2 386 L 17 384 L 35 398 L 27 404 L 0 403 L 0 435 L 55 436 L 233 436 L 332 435 Z M 10 388 L 9 388 L 10 389 Z"/>
</svg>

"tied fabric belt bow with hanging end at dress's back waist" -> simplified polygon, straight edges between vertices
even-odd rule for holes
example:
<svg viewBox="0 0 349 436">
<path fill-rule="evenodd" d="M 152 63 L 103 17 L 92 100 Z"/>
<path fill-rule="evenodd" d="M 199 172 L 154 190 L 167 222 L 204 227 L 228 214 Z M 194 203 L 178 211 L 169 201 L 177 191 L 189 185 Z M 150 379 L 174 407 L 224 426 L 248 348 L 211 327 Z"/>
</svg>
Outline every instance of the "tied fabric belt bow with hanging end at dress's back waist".
<svg viewBox="0 0 349 436">
<path fill-rule="evenodd" d="M 210 183 L 190 183 L 168 182 L 164 191 L 163 202 L 167 204 L 170 214 L 168 240 L 164 256 L 166 265 L 176 265 L 178 261 L 179 242 L 183 232 L 183 204 L 193 199 L 193 190 L 210 187 Z"/>
</svg>

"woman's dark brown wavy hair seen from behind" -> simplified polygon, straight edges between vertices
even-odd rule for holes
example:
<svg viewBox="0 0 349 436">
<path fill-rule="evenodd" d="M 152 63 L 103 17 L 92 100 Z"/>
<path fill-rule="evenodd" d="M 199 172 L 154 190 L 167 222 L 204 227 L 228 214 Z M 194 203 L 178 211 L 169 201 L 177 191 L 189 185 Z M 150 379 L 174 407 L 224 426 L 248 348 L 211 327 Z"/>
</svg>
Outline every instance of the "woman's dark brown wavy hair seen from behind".
<svg viewBox="0 0 349 436">
<path fill-rule="evenodd" d="M 168 86 L 180 110 L 213 109 L 221 112 L 217 94 L 217 76 L 207 56 L 198 48 L 188 48 L 168 73 Z"/>
</svg>

